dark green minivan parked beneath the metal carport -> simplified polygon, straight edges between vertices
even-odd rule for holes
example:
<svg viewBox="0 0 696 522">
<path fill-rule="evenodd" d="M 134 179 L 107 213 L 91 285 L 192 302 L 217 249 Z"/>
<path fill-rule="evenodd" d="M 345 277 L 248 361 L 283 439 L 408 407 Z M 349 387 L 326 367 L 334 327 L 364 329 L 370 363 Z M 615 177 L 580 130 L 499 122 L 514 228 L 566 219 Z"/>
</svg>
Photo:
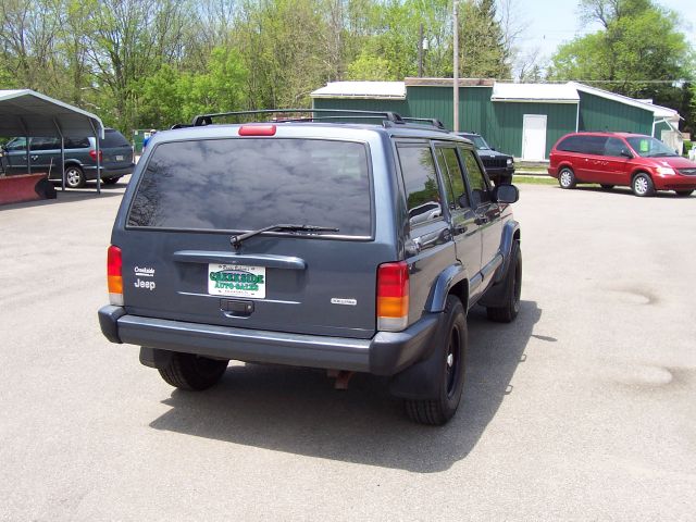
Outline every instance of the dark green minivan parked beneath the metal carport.
<svg viewBox="0 0 696 522">
<path fill-rule="evenodd" d="M 7 174 L 24 174 L 28 170 L 26 138 L 13 138 L 3 148 L 2 166 Z M 133 172 L 133 147 L 119 130 L 104 129 L 99 140 L 101 179 L 111 185 Z M 54 137 L 29 138 L 33 172 L 50 172 L 49 179 L 61 179 L 61 140 Z M 65 184 L 80 188 L 88 179 L 97 179 L 97 149 L 94 137 L 65 139 Z"/>
</svg>

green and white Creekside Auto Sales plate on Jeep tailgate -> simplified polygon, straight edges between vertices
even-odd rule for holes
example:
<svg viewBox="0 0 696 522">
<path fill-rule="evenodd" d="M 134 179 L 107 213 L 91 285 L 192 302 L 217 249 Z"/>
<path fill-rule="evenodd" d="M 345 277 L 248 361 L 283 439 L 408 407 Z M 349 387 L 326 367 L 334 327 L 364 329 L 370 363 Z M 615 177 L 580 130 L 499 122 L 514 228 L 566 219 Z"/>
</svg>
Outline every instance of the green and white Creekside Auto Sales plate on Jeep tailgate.
<svg viewBox="0 0 696 522">
<path fill-rule="evenodd" d="M 226 297 L 265 298 L 265 266 L 208 265 L 208 294 Z"/>
</svg>

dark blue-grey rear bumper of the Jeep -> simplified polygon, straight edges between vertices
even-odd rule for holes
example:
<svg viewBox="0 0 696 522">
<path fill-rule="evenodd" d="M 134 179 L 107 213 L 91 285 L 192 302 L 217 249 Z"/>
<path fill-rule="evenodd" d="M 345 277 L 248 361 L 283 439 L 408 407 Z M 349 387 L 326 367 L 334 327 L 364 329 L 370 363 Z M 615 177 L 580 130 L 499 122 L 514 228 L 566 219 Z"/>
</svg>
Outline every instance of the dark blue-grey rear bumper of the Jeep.
<svg viewBox="0 0 696 522">
<path fill-rule="evenodd" d="M 99 310 L 99 324 L 112 343 L 127 343 L 199 356 L 394 375 L 428 351 L 440 313 L 426 314 L 403 332 L 378 332 L 371 339 L 187 323 Z"/>
</svg>

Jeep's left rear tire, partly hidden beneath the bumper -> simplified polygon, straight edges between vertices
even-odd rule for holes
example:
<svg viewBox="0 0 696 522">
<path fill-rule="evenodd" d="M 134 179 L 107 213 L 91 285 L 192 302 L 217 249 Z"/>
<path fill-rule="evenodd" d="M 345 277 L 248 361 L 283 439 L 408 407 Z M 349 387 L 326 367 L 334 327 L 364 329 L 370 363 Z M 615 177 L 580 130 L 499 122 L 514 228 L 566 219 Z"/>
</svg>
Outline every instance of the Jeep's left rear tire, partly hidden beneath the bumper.
<svg viewBox="0 0 696 522">
<path fill-rule="evenodd" d="M 195 353 L 172 353 L 171 362 L 159 369 L 162 378 L 179 389 L 201 390 L 217 383 L 229 361 L 209 359 Z"/>
</svg>

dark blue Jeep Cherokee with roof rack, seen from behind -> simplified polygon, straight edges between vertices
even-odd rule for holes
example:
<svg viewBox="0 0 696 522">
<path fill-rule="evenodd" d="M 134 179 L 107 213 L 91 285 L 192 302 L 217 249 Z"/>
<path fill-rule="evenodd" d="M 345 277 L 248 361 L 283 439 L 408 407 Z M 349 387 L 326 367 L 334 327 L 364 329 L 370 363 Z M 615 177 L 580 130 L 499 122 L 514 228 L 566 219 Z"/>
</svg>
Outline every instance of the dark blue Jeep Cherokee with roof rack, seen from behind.
<svg viewBox="0 0 696 522">
<path fill-rule="evenodd" d="M 494 188 L 470 141 L 395 113 L 265 112 L 152 138 L 112 232 L 103 334 L 178 388 L 231 359 L 368 372 L 414 421 L 447 422 L 468 310 L 518 314 L 517 188 Z"/>
</svg>

